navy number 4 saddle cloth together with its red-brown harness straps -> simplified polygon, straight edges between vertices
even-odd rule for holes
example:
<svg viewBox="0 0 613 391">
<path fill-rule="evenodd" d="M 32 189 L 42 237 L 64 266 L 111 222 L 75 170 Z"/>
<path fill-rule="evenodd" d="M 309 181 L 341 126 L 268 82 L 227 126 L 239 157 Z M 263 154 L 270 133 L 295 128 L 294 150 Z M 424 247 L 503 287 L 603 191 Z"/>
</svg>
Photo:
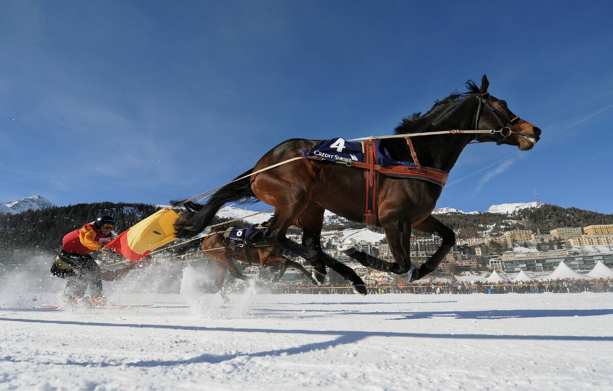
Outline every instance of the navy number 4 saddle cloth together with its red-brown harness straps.
<svg viewBox="0 0 613 391">
<path fill-rule="evenodd" d="M 383 140 L 348 142 L 342 137 L 322 140 L 313 148 L 300 151 L 307 159 L 341 163 L 364 169 L 364 224 L 375 226 L 378 215 L 377 183 L 379 173 L 388 177 L 416 178 L 436 183 L 441 188 L 447 181 L 448 173 L 430 167 L 422 167 L 409 137 L 406 142 L 411 149 L 413 162 L 397 161 L 390 156 Z"/>
</svg>

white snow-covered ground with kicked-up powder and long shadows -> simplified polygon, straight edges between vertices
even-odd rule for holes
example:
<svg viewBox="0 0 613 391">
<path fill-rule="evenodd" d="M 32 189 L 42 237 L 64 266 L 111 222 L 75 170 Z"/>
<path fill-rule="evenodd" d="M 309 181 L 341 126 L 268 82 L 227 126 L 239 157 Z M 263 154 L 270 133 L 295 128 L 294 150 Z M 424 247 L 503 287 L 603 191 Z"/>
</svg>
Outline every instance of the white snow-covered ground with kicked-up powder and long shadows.
<svg viewBox="0 0 613 391">
<path fill-rule="evenodd" d="M 105 283 L 106 309 L 55 310 L 45 268 L 2 278 L 1 390 L 613 389 L 613 294 L 249 288 L 224 305 L 175 264 Z"/>
</svg>

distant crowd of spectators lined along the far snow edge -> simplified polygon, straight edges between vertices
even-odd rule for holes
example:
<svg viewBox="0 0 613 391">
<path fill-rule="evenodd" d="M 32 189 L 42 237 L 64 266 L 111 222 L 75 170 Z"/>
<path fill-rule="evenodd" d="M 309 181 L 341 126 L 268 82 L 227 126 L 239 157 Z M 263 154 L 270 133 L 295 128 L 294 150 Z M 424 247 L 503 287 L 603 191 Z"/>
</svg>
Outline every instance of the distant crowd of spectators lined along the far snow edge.
<svg viewBox="0 0 613 391">
<path fill-rule="evenodd" d="M 368 294 L 539 294 L 579 293 L 579 292 L 613 292 L 613 279 L 546 279 L 542 281 L 504 281 L 487 283 L 484 281 L 413 281 L 411 283 L 367 284 Z M 352 294 L 351 286 L 332 286 L 324 284 L 311 286 L 301 283 L 273 284 L 273 294 Z"/>
</svg>

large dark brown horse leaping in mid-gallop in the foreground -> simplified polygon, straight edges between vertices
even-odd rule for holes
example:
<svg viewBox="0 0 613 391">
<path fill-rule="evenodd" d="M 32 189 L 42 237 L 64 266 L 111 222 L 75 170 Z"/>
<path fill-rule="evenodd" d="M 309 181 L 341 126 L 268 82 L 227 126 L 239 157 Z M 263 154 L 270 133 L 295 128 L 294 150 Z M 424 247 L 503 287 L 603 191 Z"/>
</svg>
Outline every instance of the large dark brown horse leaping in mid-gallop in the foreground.
<svg viewBox="0 0 613 391">
<path fill-rule="evenodd" d="M 275 146 L 253 169 L 216 191 L 203 207 L 195 208 L 196 204 L 191 202 L 175 202 L 175 205 L 186 207 L 183 218 L 175 225 L 176 235 L 192 237 L 207 227 L 225 203 L 257 197 L 275 207 L 273 219 L 264 232 L 269 243 L 307 259 L 318 272 L 319 281 L 325 277 L 328 266 L 351 281 L 357 292 L 366 294 L 364 282 L 351 268 L 322 251 L 319 235 L 327 209 L 351 221 L 366 221 L 383 227 L 394 262 L 386 262 L 355 248 L 346 249 L 350 257 L 376 270 L 409 273 L 409 281 L 422 278 L 438 267 L 455 244 L 455 233 L 431 213 L 446 174 L 464 147 L 476 141 L 530 150 L 539 140 L 541 129 L 514 115 L 506 102 L 487 92 L 488 86 L 485 75 L 481 87 L 469 80 L 466 93 L 454 93 L 437 101 L 425 115 L 417 113 L 404 118 L 396 127 L 395 133 L 400 137 L 379 140 L 395 161 L 413 162 L 408 178 L 399 178 L 400 174 L 390 173 L 390 170 L 386 173 L 386 169 L 372 159 L 362 167 L 349 164 L 351 162 L 335 164 L 300 159 L 303 151 L 312 151 L 319 142 L 291 139 Z M 419 137 L 414 137 L 415 134 Z M 338 148 L 342 149 L 340 143 Z M 292 158 L 299 159 L 290 160 Z M 284 164 L 260 171 L 279 163 Z M 377 202 L 371 205 L 373 197 Z M 299 221 L 303 227 L 302 244 L 286 237 L 287 228 L 294 221 Z M 441 247 L 419 268 L 411 265 L 409 256 L 413 228 L 443 239 Z"/>
</svg>

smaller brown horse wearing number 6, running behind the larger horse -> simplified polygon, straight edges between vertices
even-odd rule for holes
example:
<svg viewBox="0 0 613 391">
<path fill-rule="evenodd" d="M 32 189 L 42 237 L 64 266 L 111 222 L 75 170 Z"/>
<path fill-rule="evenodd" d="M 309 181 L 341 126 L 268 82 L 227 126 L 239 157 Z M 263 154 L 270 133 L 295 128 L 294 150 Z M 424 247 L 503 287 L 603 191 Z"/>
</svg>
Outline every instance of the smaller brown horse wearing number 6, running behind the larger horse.
<svg viewBox="0 0 613 391">
<path fill-rule="evenodd" d="M 207 257 L 215 261 L 217 266 L 215 287 L 218 291 L 223 288 L 228 272 L 234 278 L 248 281 L 249 277 L 238 270 L 234 260 L 245 263 L 257 261 L 261 267 L 281 266 L 281 270 L 276 273 L 273 282 L 279 281 L 286 269 L 291 267 L 301 271 L 313 284 L 317 284 L 302 265 L 283 256 L 283 248 L 280 246 L 253 246 L 248 243 L 239 246 L 224 237 L 224 232 L 213 232 L 202 239 L 202 251 L 205 252 Z"/>
</svg>

